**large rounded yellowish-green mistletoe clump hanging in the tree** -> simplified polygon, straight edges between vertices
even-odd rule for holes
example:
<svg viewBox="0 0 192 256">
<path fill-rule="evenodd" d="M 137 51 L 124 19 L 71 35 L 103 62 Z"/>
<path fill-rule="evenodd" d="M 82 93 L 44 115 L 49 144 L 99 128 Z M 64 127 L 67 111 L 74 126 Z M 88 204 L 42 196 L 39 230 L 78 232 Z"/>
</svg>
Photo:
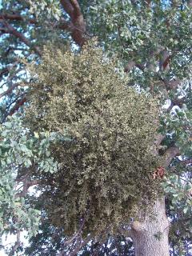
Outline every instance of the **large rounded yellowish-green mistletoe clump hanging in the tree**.
<svg viewBox="0 0 192 256">
<path fill-rule="evenodd" d="M 52 147 L 59 170 L 41 173 L 51 222 L 65 234 L 116 230 L 157 191 L 157 102 L 89 44 L 78 54 L 47 48 L 32 71 L 28 123 L 62 138 Z"/>
</svg>

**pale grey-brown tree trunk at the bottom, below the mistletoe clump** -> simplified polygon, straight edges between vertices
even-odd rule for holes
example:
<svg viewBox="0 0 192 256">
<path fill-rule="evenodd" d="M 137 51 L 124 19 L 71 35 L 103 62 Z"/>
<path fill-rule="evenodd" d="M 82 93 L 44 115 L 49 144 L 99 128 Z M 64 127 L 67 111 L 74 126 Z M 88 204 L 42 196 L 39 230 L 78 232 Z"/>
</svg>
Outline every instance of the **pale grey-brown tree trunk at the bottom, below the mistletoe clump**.
<svg viewBox="0 0 192 256">
<path fill-rule="evenodd" d="M 169 226 L 164 198 L 154 202 L 142 222 L 132 225 L 135 256 L 169 256 Z"/>
</svg>

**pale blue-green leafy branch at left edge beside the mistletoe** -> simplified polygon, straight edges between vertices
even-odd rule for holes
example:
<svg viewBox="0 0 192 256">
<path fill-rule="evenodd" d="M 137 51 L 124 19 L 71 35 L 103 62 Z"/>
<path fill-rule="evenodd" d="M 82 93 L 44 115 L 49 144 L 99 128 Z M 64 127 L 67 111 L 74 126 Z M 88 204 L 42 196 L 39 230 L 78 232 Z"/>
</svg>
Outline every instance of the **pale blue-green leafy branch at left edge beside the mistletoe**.
<svg viewBox="0 0 192 256">
<path fill-rule="evenodd" d="M 50 157 L 50 144 L 57 140 L 56 137 L 56 134 L 47 132 L 38 136 L 37 133 L 31 134 L 17 115 L 8 118 L 8 121 L 0 126 L 1 234 L 28 230 L 30 235 L 34 235 L 37 231 L 40 212 L 27 202 L 27 198 L 24 199 L 26 193 L 21 194 L 24 186 L 22 182 L 25 175 L 33 180 L 35 169 L 39 174 L 43 171 L 53 173 L 58 170 L 57 162 Z"/>
</svg>

